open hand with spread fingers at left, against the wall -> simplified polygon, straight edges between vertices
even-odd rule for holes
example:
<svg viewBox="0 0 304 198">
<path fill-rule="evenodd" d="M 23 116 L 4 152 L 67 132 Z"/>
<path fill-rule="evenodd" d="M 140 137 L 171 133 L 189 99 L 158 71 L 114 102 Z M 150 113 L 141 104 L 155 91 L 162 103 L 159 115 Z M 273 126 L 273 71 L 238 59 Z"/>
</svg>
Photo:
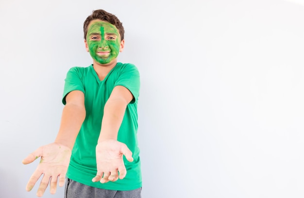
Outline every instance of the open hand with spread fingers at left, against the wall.
<svg viewBox="0 0 304 198">
<path fill-rule="evenodd" d="M 28 164 L 34 162 L 34 160 L 39 157 L 41 157 L 40 163 L 28 181 L 26 190 L 31 191 L 37 180 L 39 180 L 43 174 L 36 194 L 38 197 L 42 197 L 49 183 L 51 194 L 56 192 L 58 177 L 59 186 L 62 187 L 64 185 L 71 157 L 71 149 L 57 143 L 47 144 L 31 153 L 22 163 Z"/>
</svg>

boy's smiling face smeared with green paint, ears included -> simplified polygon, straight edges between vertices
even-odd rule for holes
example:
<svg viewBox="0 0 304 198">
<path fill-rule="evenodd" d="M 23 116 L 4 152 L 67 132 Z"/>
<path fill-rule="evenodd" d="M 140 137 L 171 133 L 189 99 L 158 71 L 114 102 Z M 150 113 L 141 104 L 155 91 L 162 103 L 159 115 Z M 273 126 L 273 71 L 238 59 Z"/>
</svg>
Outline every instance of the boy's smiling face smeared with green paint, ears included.
<svg viewBox="0 0 304 198">
<path fill-rule="evenodd" d="M 117 58 L 124 46 L 115 25 L 101 20 L 90 22 L 84 42 L 86 51 L 100 64 L 110 63 Z"/>
</svg>

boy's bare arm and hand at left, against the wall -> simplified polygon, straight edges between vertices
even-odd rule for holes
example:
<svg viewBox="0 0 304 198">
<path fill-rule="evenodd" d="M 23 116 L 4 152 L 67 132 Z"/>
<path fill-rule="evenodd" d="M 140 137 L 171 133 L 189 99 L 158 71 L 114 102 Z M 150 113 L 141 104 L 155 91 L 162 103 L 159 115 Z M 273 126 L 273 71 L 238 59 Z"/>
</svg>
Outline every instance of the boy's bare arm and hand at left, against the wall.
<svg viewBox="0 0 304 198">
<path fill-rule="evenodd" d="M 69 92 L 66 102 L 55 142 L 39 147 L 22 161 L 22 163 L 28 164 L 41 157 L 40 163 L 26 186 L 27 191 L 32 190 L 43 174 L 37 191 L 38 197 L 44 194 L 49 182 L 51 194 L 54 194 L 58 177 L 59 186 L 64 185 L 71 150 L 85 119 L 84 93 L 82 91 Z"/>
</svg>

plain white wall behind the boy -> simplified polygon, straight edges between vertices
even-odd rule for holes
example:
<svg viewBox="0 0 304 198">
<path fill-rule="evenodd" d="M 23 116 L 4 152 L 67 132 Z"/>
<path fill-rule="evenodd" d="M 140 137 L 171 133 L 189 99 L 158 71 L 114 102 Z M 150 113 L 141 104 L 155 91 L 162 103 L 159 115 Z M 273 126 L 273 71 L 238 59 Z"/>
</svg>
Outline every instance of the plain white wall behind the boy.
<svg viewBox="0 0 304 198">
<path fill-rule="evenodd" d="M 125 27 L 118 61 L 141 73 L 143 198 L 303 198 L 297 1 L 1 0 L 0 197 L 35 197 L 38 162 L 21 161 L 54 140 L 66 72 L 91 64 L 84 19 L 102 8 Z"/>
</svg>

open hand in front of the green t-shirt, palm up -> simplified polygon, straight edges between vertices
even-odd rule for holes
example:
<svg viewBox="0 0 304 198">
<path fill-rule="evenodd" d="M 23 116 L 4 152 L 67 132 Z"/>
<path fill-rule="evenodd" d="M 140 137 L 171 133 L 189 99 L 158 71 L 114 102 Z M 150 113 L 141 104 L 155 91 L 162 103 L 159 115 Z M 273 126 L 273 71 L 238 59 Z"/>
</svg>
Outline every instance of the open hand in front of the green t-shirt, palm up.
<svg viewBox="0 0 304 198">
<path fill-rule="evenodd" d="M 116 181 L 118 178 L 122 180 L 127 174 L 123 155 L 129 162 L 133 162 L 132 152 L 126 144 L 116 140 L 105 140 L 97 144 L 97 174 L 92 181 L 106 183 L 108 181 Z"/>
</svg>

